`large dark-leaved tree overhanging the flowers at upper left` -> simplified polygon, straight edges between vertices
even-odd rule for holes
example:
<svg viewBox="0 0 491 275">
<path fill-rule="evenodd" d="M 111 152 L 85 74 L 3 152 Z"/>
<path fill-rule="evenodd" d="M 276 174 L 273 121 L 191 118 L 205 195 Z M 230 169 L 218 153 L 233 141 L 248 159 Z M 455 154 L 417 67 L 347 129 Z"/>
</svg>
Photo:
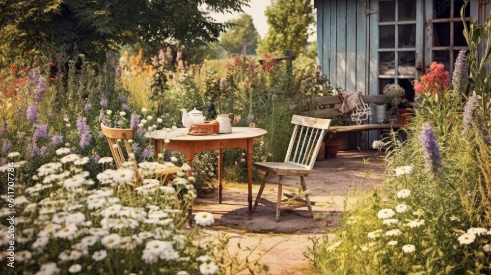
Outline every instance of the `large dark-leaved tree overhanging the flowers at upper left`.
<svg viewBox="0 0 491 275">
<path fill-rule="evenodd" d="M 241 12 L 248 0 L 40 0 L 0 1 L 0 56 L 50 44 L 75 46 L 92 59 L 142 41 L 204 45 L 228 24 L 207 11 Z M 203 10 L 206 7 L 207 10 Z M 48 46 L 47 46 L 48 45 Z M 5 60 L 6 61 L 6 60 Z M 4 61 L 4 62 L 5 62 Z"/>
</svg>

